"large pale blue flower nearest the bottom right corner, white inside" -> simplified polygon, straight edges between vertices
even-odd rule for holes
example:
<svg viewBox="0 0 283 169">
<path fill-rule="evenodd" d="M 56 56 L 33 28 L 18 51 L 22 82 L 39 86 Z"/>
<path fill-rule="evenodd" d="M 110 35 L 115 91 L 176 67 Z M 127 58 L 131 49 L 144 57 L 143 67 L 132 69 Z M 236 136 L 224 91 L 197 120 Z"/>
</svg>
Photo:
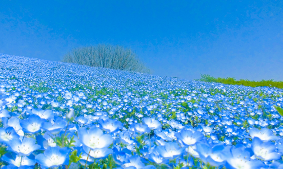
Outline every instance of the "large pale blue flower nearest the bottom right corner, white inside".
<svg viewBox="0 0 283 169">
<path fill-rule="evenodd" d="M 281 158 L 281 154 L 275 152 L 276 146 L 273 142 L 263 142 L 258 137 L 253 138 L 252 150 L 257 158 L 265 161 Z"/>
</svg>

